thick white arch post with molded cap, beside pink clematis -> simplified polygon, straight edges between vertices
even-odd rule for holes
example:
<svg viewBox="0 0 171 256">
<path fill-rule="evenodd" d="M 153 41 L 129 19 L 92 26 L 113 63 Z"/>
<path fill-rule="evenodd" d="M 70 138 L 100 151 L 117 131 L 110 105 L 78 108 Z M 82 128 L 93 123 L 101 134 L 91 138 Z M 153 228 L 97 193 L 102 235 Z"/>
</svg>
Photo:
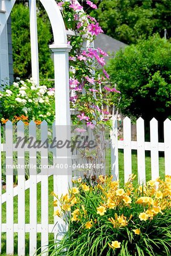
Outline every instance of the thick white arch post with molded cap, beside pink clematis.
<svg viewBox="0 0 171 256">
<path fill-rule="evenodd" d="M 55 127 L 53 136 L 57 141 L 70 141 L 70 106 L 69 106 L 69 58 L 68 52 L 72 47 L 68 44 L 50 46 L 54 53 L 55 69 Z M 63 164 L 63 167 L 54 168 L 53 190 L 58 196 L 68 192 L 72 181 L 72 160 L 70 148 L 56 148 L 53 164 Z M 66 230 L 64 220 L 55 216 L 58 236 L 61 239 Z M 56 238 L 57 233 L 55 234 Z"/>
</svg>

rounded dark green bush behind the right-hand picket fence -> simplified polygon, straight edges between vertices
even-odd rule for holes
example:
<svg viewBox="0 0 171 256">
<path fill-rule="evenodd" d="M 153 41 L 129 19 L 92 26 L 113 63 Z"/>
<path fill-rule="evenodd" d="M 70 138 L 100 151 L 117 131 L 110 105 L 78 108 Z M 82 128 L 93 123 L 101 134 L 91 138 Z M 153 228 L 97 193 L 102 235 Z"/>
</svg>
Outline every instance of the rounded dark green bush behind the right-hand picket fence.
<svg viewBox="0 0 171 256">
<path fill-rule="evenodd" d="M 116 53 L 108 72 L 121 92 L 124 115 L 164 120 L 171 116 L 171 44 L 159 35 Z"/>
</svg>

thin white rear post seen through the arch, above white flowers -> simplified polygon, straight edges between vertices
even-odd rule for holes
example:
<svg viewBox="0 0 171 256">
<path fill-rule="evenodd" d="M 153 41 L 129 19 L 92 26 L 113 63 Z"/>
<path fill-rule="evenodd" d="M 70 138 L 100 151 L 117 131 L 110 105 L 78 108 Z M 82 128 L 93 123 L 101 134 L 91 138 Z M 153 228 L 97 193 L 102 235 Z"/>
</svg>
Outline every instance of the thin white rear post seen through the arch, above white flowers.
<svg viewBox="0 0 171 256">
<path fill-rule="evenodd" d="M 36 0 L 29 0 L 30 6 L 30 43 L 32 79 L 39 85 L 39 52 L 37 39 Z"/>
</svg>

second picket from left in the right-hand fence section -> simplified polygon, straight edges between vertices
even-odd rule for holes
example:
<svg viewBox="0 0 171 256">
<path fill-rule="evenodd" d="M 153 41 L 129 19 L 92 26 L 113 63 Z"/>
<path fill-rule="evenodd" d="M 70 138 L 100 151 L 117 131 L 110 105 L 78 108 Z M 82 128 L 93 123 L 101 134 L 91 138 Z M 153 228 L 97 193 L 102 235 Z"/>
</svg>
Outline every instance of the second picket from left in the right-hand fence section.
<svg viewBox="0 0 171 256">
<path fill-rule="evenodd" d="M 131 152 L 131 120 L 126 117 L 123 120 L 123 143 L 124 143 L 124 182 L 126 183 L 132 174 Z"/>
</svg>

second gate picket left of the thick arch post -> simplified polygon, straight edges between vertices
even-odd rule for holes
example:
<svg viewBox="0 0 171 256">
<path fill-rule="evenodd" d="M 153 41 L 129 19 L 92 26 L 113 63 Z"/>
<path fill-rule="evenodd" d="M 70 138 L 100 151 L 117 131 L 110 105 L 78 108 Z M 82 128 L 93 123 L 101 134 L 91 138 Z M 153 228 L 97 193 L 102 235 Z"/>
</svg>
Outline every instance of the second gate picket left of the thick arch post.
<svg viewBox="0 0 171 256">
<path fill-rule="evenodd" d="M 31 121 L 29 124 L 29 137 L 36 141 L 36 124 Z M 34 255 L 37 249 L 37 169 L 36 151 L 30 151 L 30 255 Z"/>
</svg>

